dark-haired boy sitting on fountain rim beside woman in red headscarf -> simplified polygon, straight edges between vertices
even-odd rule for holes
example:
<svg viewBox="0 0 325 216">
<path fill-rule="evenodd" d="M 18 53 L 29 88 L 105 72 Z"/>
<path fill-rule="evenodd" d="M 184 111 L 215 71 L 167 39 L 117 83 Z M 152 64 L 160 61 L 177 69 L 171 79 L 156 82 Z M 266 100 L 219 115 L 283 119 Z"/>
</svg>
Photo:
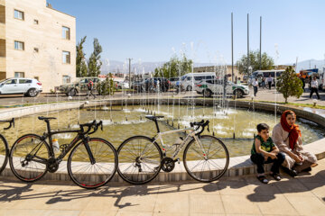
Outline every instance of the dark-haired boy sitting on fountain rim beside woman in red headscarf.
<svg viewBox="0 0 325 216">
<path fill-rule="evenodd" d="M 280 181 L 279 167 L 284 161 L 283 153 L 279 152 L 279 148 L 274 145 L 273 140 L 269 136 L 269 126 L 265 123 L 257 125 L 258 135 L 255 137 L 252 149 L 251 160 L 257 166 L 257 179 L 267 184 L 265 177 L 265 164 L 273 163 L 271 167 L 271 176 L 276 181 Z"/>
</svg>

